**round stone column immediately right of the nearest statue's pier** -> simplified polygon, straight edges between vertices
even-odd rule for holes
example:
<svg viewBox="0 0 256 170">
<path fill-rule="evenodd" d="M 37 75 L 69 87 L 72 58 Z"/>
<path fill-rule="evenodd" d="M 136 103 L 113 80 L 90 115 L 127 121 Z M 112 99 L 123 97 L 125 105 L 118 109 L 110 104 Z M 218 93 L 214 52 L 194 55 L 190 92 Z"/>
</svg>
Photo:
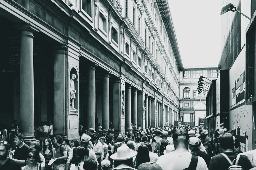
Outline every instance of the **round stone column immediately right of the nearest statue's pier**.
<svg viewBox="0 0 256 170">
<path fill-rule="evenodd" d="M 95 92 L 95 72 L 94 64 L 89 66 L 88 70 L 88 105 L 87 105 L 87 129 L 95 129 L 95 116 L 96 116 L 96 92 Z"/>
</svg>

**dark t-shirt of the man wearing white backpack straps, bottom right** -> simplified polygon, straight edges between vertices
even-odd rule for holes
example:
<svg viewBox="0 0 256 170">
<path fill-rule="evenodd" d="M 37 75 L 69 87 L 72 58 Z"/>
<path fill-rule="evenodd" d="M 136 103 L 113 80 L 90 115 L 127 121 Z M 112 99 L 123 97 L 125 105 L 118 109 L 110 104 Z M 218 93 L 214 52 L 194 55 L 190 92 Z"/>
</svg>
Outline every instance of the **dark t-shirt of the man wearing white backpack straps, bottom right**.
<svg viewBox="0 0 256 170">
<path fill-rule="evenodd" d="M 237 153 L 234 152 L 225 152 L 224 154 L 226 154 L 231 161 L 236 159 L 237 156 Z M 249 170 L 252 168 L 252 165 L 248 160 L 247 156 L 244 155 L 240 155 L 238 165 L 242 166 L 244 170 Z M 218 154 L 212 157 L 209 170 L 227 170 L 229 166 L 230 163 L 228 162 L 228 160 L 223 155 Z"/>
</svg>

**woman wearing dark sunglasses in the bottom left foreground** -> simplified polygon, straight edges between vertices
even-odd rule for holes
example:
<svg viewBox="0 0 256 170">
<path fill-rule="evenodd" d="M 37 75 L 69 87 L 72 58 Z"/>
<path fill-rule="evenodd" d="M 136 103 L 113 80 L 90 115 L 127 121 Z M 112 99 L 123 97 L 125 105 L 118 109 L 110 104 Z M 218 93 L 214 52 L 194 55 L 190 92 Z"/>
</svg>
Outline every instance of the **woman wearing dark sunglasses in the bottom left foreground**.
<svg viewBox="0 0 256 170">
<path fill-rule="evenodd" d="M 35 148 L 31 148 L 29 150 L 28 156 L 27 156 L 27 162 L 28 164 L 24 167 L 22 167 L 22 170 L 45 170 L 44 165 L 41 164 L 42 161 L 39 157 L 39 151 Z M 39 163 L 39 164 L 38 164 Z"/>
</svg>

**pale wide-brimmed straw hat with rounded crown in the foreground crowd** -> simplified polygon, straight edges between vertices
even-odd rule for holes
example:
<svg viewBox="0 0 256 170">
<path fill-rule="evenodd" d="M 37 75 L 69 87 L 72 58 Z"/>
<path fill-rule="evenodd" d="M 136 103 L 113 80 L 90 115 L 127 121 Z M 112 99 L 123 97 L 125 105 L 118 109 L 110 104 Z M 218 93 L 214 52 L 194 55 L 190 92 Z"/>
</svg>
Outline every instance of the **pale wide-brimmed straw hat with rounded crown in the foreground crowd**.
<svg viewBox="0 0 256 170">
<path fill-rule="evenodd" d="M 111 155 L 110 158 L 113 160 L 122 161 L 122 160 L 133 158 L 136 155 L 137 155 L 136 151 L 130 150 L 128 146 L 124 145 L 117 148 L 116 153 Z"/>
</svg>

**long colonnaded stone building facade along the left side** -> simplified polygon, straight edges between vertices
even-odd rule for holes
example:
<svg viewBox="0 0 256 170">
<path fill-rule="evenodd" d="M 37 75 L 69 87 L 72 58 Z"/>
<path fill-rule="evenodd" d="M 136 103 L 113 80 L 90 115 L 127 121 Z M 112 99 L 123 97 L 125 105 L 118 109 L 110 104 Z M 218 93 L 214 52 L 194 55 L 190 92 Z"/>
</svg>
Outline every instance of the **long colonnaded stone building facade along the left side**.
<svg viewBox="0 0 256 170">
<path fill-rule="evenodd" d="M 0 117 L 18 120 L 26 139 L 40 121 L 68 139 L 79 123 L 112 122 L 117 133 L 173 124 L 183 65 L 167 0 L 2 0 L 0 9 Z"/>
</svg>

